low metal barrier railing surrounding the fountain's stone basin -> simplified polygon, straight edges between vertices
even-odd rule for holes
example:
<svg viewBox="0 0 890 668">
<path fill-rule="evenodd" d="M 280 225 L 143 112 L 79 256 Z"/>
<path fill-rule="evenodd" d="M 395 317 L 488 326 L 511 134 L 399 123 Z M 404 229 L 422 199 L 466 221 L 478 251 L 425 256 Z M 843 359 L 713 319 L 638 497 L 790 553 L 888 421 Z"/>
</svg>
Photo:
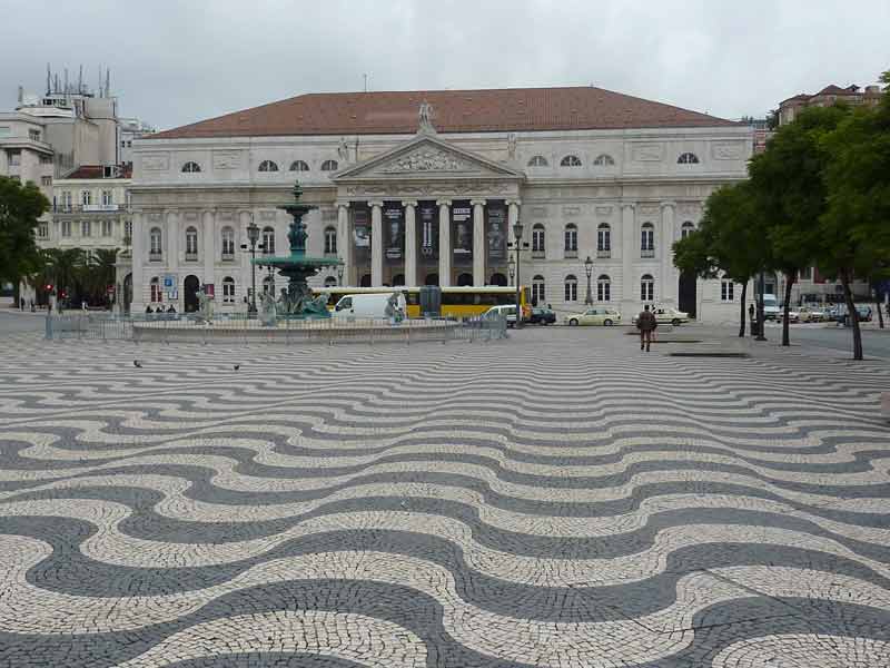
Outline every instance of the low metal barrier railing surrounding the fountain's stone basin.
<svg viewBox="0 0 890 668">
<path fill-rule="evenodd" d="M 281 318 L 264 324 L 246 313 L 220 314 L 207 321 L 196 314 L 159 313 L 120 316 L 109 313 L 47 315 L 50 341 L 419 343 L 493 341 L 507 337 L 503 315 L 465 320 L 416 318 L 396 322 L 372 317 Z"/>
</svg>

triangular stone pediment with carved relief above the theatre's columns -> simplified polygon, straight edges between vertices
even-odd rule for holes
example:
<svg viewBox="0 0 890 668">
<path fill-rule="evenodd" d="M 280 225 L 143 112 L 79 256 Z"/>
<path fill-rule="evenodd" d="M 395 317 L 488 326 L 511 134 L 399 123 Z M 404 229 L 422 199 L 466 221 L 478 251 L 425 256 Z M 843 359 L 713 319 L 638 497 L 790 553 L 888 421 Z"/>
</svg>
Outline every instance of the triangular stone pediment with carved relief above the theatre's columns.
<svg viewBox="0 0 890 668">
<path fill-rule="evenodd" d="M 411 141 L 332 176 L 335 183 L 412 178 L 524 179 L 525 174 L 437 137 L 418 135 Z"/>
</svg>

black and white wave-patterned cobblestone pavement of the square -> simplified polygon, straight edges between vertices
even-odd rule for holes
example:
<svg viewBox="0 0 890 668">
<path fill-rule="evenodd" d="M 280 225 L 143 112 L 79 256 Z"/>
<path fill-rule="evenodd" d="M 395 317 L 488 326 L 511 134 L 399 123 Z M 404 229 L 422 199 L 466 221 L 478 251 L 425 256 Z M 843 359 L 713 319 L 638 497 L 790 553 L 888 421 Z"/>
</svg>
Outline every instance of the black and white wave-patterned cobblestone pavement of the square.
<svg viewBox="0 0 890 668">
<path fill-rule="evenodd" d="M 886 362 L 4 338 L 0 666 L 890 665 Z"/>
</svg>

